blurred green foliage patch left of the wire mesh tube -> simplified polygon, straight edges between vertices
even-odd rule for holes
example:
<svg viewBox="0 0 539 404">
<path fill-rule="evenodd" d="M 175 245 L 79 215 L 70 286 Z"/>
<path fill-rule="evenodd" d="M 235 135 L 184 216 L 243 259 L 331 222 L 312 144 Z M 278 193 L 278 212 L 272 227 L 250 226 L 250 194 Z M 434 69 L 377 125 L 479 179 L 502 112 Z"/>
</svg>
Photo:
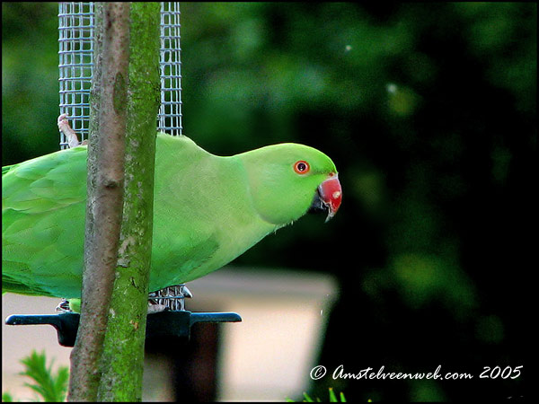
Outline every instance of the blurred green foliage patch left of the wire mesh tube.
<svg viewBox="0 0 539 404">
<path fill-rule="evenodd" d="M 59 149 L 56 3 L 2 3 L 2 160 Z"/>
</svg>

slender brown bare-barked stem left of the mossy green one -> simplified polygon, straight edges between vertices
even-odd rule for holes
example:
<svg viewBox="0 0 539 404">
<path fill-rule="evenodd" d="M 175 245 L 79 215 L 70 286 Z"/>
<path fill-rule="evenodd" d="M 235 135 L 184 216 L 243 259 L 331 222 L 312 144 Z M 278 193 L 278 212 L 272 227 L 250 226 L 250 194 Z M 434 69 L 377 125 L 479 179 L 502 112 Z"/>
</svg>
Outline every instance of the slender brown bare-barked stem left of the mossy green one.
<svg viewBox="0 0 539 404">
<path fill-rule="evenodd" d="M 99 129 L 90 134 L 81 321 L 69 401 L 95 401 L 121 226 L 128 77 L 128 3 L 102 4 Z M 94 117 L 95 118 L 95 117 Z"/>
</svg>

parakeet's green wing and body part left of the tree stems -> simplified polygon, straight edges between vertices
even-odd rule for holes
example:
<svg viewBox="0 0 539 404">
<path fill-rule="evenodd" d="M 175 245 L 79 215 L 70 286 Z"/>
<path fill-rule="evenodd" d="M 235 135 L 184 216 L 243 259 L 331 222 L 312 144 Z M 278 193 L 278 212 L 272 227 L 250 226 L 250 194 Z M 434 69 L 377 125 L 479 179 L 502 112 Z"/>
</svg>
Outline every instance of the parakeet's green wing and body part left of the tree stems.
<svg viewBox="0 0 539 404">
<path fill-rule="evenodd" d="M 55 284 L 80 289 L 85 172 L 85 147 L 4 168 L 3 292 L 58 295 Z"/>
</svg>

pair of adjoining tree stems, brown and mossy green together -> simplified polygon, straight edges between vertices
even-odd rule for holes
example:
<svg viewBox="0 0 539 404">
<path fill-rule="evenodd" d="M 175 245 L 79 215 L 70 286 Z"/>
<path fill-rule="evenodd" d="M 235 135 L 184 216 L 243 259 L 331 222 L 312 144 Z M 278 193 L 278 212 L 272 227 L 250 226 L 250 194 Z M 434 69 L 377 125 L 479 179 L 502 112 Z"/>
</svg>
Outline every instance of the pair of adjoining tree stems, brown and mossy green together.
<svg viewBox="0 0 539 404">
<path fill-rule="evenodd" d="M 84 275 L 70 401 L 141 400 L 159 108 L 159 5 L 95 7 Z"/>
</svg>

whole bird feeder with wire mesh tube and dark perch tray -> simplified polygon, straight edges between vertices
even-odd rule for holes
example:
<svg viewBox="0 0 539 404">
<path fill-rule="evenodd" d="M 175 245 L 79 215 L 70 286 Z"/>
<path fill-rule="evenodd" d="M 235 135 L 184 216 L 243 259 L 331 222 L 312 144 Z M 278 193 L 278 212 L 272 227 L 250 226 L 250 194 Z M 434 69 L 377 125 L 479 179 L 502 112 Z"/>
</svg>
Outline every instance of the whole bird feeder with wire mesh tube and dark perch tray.
<svg viewBox="0 0 539 404">
<path fill-rule="evenodd" d="M 181 47 L 180 3 L 162 2 L 160 13 L 161 105 L 156 117 L 157 130 L 171 136 L 181 136 Z M 59 3 L 59 110 L 66 116 L 71 128 L 88 139 L 90 123 L 90 92 L 94 66 L 94 11 L 93 3 Z M 69 147 L 68 139 L 60 130 L 60 148 Z M 159 312 L 148 314 L 146 338 L 190 338 L 190 327 L 197 322 L 242 321 L 234 312 L 189 312 L 185 298 L 191 297 L 185 285 L 172 285 L 148 296 L 150 307 Z M 60 310 L 65 303 L 58 305 Z M 50 324 L 57 329 L 58 343 L 65 347 L 75 345 L 79 314 L 61 312 L 49 315 L 11 315 L 8 325 Z"/>
</svg>

